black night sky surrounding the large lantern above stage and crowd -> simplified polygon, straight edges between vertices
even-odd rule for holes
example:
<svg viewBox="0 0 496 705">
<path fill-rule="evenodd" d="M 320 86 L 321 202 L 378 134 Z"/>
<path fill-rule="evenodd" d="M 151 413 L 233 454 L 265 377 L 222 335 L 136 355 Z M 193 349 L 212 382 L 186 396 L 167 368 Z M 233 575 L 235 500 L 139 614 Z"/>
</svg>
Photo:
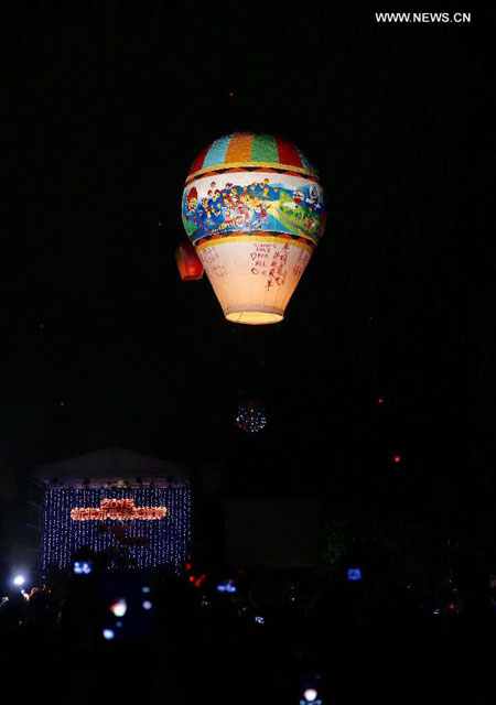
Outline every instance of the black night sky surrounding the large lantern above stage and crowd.
<svg viewBox="0 0 496 705">
<path fill-rule="evenodd" d="M 3 513 L 33 467 L 107 446 L 223 464 L 234 492 L 493 497 L 494 18 L 367 4 L 2 3 Z M 173 257 L 193 159 L 238 129 L 326 187 L 279 326 L 228 324 Z"/>
</svg>

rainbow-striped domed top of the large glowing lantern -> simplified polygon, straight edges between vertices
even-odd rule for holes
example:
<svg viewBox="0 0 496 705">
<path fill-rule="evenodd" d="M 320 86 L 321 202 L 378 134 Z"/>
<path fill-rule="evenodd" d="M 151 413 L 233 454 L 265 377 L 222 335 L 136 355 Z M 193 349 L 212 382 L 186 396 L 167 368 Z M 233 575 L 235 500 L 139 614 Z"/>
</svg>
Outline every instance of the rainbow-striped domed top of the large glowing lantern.
<svg viewBox="0 0 496 705">
<path fill-rule="evenodd" d="M 319 181 L 317 171 L 291 142 L 272 134 L 234 132 L 215 140 L 198 154 L 186 184 L 213 172 L 260 167 L 312 176 Z"/>
</svg>

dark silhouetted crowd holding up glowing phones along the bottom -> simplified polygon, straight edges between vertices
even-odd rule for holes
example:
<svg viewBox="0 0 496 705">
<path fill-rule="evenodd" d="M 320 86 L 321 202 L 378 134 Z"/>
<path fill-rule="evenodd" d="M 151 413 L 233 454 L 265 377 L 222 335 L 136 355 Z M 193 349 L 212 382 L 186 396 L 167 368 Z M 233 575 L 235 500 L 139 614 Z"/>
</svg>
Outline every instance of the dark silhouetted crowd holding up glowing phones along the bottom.
<svg viewBox="0 0 496 705">
<path fill-rule="evenodd" d="M 456 588 L 428 604 L 414 586 L 393 582 L 378 596 L 366 576 L 326 583 L 314 573 L 224 566 L 198 579 L 191 564 L 140 573 L 86 560 L 88 574 L 52 566 L 42 585 L 11 587 L 2 598 L 3 663 L 24 664 L 21 699 L 298 705 L 310 683 L 326 705 L 378 694 L 399 702 L 398 687 L 402 703 L 461 693 L 486 702 L 484 679 L 477 694 L 465 676 L 474 654 L 490 671 L 492 651 L 482 646 L 494 628 L 489 593 L 471 611 Z M 111 614 L 110 575 L 107 593 L 128 605 L 127 615 Z M 147 609 L 130 592 L 141 585 Z"/>
</svg>

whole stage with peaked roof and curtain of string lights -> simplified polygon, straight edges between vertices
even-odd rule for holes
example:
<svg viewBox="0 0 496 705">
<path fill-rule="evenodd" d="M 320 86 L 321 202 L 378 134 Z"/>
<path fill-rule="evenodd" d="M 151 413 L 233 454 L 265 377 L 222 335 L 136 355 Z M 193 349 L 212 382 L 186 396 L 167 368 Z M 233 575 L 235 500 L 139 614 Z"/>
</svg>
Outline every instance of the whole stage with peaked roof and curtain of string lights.
<svg viewBox="0 0 496 705">
<path fill-rule="evenodd" d="M 191 488 L 184 468 L 107 448 L 37 468 L 41 574 L 66 571 L 88 546 L 109 568 L 180 568 L 191 541 Z"/>
</svg>

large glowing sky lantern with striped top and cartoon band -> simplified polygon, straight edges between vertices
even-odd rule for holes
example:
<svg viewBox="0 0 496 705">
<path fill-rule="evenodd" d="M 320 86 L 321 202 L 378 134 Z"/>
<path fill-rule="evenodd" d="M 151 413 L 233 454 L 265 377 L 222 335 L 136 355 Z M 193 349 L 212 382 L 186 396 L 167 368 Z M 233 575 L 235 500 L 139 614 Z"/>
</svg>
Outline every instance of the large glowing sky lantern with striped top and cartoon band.
<svg viewBox="0 0 496 705">
<path fill-rule="evenodd" d="M 325 226 L 323 191 L 302 152 L 235 132 L 193 162 L 183 224 L 228 321 L 278 323 Z"/>
</svg>

